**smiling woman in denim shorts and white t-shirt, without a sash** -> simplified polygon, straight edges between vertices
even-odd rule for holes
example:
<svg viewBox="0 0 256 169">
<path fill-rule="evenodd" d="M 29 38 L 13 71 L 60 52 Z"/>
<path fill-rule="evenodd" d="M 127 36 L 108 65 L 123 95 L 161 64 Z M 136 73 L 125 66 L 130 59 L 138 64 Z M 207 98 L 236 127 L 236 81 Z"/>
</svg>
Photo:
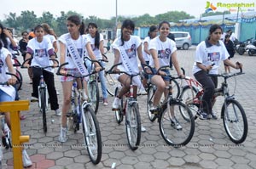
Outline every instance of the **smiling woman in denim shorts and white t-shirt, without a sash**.
<svg viewBox="0 0 256 169">
<path fill-rule="evenodd" d="M 160 35 L 152 39 L 149 44 L 149 51 L 152 55 L 152 59 L 150 60 L 149 65 L 154 67 L 154 73 L 156 73 L 156 70 L 158 70 L 161 66 L 170 66 L 170 61 L 172 60 L 172 64 L 177 71 L 177 75 L 183 76 L 177 62 L 176 43 L 167 37 L 170 33 L 170 27 L 171 25 L 169 22 L 160 22 L 158 27 Z M 154 83 L 157 87 L 154 93 L 153 106 L 150 108 L 151 112 L 157 110 L 157 106 L 160 104 L 160 98 L 162 94 L 165 93 L 166 97 L 168 93 L 166 86 L 169 85 L 170 79 L 165 75 L 170 75 L 170 72 L 168 70 L 160 70 L 159 74 L 160 75 L 154 75 L 151 77 L 151 82 Z M 175 116 L 172 117 L 172 121 L 175 123 L 177 129 L 182 128 Z"/>
</svg>

